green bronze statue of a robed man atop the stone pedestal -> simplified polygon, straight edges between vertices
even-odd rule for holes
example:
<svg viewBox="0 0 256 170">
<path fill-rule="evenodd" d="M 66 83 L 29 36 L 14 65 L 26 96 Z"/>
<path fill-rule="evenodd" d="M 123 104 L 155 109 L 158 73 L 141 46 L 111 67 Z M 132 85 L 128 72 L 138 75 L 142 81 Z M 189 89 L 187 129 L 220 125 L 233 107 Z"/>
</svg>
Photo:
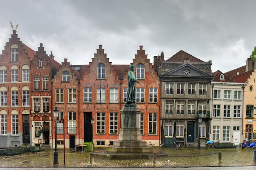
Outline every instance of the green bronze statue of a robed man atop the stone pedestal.
<svg viewBox="0 0 256 170">
<path fill-rule="evenodd" d="M 134 68 L 135 65 L 130 65 L 129 69 L 130 71 L 128 72 L 128 89 L 127 89 L 127 95 L 126 95 L 126 104 L 135 104 L 136 101 L 136 82 L 139 83 L 137 78 L 134 75 Z"/>
</svg>

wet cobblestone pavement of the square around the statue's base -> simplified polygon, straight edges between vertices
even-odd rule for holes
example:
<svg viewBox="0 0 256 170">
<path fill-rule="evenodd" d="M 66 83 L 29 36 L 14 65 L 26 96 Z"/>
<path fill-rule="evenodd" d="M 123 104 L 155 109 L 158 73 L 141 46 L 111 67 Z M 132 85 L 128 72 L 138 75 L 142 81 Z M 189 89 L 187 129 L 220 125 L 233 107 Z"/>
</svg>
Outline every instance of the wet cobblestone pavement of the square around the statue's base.
<svg viewBox="0 0 256 170">
<path fill-rule="evenodd" d="M 63 149 L 58 149 L 59 164 L 53 165 L 54 149 L 44 148 L 42 153 L 16 155 L 15 157 L 0 156 L 0 167 L 20 168 L 101 168 L 101 167 L 207 167 L 207 166 L 256 166 L 253 163 L 254 150 L 251 148 L 208 149 L 201 147 L 186 147 L 181 150 L 154 147 L 156 152 L 164 151 L 169 156 L 157 156 L 157 163 L 152 159 L 106 160 L 94 157 L 94 163 L 89 163 L 90 152 L 75 152 L 65 149 L 65 164 Z M 102 150 L 104 148 L 95 148 Z M 222 153 L 222 163 L 217 163 L 218 152 Z"/>
</svg>

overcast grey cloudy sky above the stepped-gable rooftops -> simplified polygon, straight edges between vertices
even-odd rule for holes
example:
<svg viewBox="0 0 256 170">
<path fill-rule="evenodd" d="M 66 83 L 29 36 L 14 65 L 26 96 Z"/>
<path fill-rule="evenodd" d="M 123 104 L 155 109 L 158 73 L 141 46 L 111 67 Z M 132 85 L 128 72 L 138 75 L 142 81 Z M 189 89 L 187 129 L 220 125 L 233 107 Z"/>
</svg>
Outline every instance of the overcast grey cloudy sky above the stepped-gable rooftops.
<svg viewBox="0 0 256 170">
<path fill-rule="evenodd" d="M 168 59 L 180 50 L 212 61 L 212 72 L 245 65 L 256 46 L 253 0 L 2 0 L 0 54 L 12 34 L 38 50 L 88 64 L 102 45 L 112 64 L 130 64 L 139 46 Z"/>
</svg>

